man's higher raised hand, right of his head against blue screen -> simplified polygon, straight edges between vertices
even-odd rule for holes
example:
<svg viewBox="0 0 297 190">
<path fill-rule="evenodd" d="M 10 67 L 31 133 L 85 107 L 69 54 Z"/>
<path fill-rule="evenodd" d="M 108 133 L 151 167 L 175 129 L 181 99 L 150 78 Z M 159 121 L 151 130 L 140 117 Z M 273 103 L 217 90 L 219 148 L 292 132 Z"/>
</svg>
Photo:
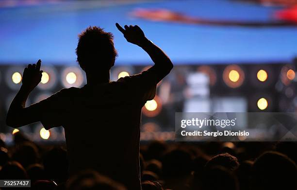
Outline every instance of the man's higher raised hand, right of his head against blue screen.
<svg viewBox="0 0 297 190">
<path fill-rule="evenodd" d="M 124 28 L 121 27 L 118 23 L 115 23 L 116 28 L 123 33 L 124 37 L 127 39 L 128 42 L 135 44 L 137 46 L 142 46 L 148 39 L 144 35 L 143 31 L 139 26 L 127 26 L 125 25 Z"/>
</svg>

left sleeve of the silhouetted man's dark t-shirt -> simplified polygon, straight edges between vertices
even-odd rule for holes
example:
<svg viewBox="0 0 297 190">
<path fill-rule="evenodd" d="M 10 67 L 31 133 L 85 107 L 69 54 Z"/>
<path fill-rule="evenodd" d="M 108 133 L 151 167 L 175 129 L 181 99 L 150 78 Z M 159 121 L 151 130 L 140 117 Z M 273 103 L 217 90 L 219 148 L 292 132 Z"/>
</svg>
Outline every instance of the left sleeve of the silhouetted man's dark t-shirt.
<svg viewBox="0 0 297 190">
<path fill-rule="evenodd" d="M 66 91 L 62 89 L 49 98 L 30 106 L 39 111 L 40 121 L 46 130 L 63 125 L 69 102 Z"/>
</svg>

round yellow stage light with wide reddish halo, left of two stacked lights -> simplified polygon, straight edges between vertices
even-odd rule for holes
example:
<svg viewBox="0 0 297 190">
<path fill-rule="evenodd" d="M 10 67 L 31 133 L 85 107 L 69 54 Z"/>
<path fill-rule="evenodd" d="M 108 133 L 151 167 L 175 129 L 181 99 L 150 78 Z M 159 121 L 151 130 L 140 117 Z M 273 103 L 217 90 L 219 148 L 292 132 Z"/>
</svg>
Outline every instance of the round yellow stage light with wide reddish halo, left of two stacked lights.
<svg viewBox="0 0 297 190">
<path fill-rule="evenodd" d="M 244 71 L 237 65 L 229 65 L 224 69 L 223 80 L 227 86 L 237 88 L 241 86 L 245 79 Z"/>
</svg>

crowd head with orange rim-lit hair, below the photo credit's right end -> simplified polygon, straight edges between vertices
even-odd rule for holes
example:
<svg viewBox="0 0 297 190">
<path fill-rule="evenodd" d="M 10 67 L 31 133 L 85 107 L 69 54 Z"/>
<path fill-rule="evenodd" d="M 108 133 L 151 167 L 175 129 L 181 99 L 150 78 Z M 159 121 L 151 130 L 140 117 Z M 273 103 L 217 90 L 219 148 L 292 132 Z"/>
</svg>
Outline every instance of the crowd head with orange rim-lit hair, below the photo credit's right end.
<svg viewBox="0 0 297 190">
<path fill-rule="evenodd" d="M 211 158 L 205 165 L 205 168 L 212 168 L 214 166 L 223 166 L 226 169 L 233 171 L 239 165 L 239 162 L 235 156 L 230 155 L 229 153 L 223 153 L 215 155 Z"/>
</svg>

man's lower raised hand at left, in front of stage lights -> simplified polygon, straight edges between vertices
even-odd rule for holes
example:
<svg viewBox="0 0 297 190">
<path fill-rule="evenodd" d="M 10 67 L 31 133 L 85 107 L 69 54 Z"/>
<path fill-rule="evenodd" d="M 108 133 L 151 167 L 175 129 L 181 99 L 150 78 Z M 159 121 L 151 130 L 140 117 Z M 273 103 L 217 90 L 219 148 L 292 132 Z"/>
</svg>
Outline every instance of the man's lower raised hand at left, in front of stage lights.
<svg viewBox="0 0 297 190">
<path fill-rule="evenodd" d="M 23 73 L 22 86 L 26 90 L 32 91 L 41 81 L 42 70 L 40 70 L 41 60 L 39 59 L 36 64 L 29 64 Z"/>
</svg>

